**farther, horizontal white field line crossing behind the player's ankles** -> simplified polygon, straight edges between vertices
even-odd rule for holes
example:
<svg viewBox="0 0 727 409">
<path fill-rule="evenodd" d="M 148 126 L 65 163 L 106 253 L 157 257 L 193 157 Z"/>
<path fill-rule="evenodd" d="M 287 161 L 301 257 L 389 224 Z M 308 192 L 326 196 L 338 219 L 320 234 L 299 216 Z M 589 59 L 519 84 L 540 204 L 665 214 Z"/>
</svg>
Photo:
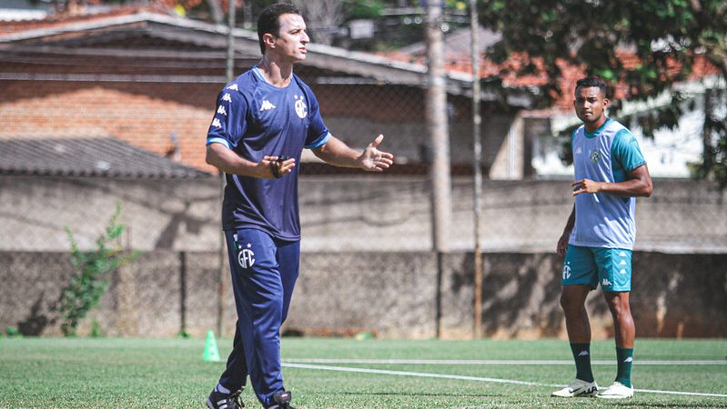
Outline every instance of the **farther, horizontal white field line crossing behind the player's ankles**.
<svg viewBox="0 0 727 409">
<path fill-rule="evenodd" d="M 572 365 L 572 360 L 459 360 L 459 359 L 335 359 L 288 358 L 285 362 L 298 364 L 415 364 L 415 365 Z M 615 360 L 595 360 L 593 365 L 613 365 Z M 727 360 L 653 361 L 634 360 L 635 365 L 727 365 Z"/>
</svg>

